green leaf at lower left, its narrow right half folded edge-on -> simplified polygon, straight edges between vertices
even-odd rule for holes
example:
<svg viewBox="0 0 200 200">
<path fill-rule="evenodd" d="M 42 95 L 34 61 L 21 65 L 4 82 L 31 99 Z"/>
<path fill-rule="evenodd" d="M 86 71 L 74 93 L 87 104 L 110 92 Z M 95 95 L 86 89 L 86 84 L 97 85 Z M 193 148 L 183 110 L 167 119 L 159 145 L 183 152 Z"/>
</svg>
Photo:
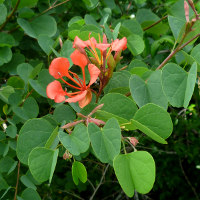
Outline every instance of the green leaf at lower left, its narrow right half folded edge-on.
<svg viewBox="0 0 200 200">
<path fill-rule="evenodd" d="M 28 157 L 28 166 L 33 177 L 39 182 L 49 180 L 51 183 L 57 158 L 58 149 L 34 148 Z"/>
</svg>

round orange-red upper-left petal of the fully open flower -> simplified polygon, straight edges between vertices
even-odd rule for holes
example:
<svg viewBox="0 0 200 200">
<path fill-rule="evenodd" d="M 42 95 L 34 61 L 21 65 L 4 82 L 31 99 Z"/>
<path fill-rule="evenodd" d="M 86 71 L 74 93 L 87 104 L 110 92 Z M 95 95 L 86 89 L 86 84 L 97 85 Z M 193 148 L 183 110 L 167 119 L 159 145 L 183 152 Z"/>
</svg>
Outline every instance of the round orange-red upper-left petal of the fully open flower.
<svg viewBox="0 0 200 200">
<path fill-rule="evenodd" d="M 56 79 L 60 78 L 60 76 L 68 76 L 69 66 L 70 63 L 67 58 L 55 58 L 49 66 L 49 73 Z"/>
</svg>

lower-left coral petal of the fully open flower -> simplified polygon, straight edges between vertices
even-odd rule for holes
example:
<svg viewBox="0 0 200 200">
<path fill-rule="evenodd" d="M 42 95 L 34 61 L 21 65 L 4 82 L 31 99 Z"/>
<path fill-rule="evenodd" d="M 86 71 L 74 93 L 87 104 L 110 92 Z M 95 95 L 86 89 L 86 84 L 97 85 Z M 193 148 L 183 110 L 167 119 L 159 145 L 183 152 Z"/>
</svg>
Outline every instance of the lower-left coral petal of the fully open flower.
<svg viewBox="0 0 200 200">
<path fill-rule="evenodd" d="M 46 89 L 47 97 L 53 99 L 56 103 L 61 103 L 65 100 L 66 92 L 63 90 L 59 81 L 49 83 Z"/>
</svg>

